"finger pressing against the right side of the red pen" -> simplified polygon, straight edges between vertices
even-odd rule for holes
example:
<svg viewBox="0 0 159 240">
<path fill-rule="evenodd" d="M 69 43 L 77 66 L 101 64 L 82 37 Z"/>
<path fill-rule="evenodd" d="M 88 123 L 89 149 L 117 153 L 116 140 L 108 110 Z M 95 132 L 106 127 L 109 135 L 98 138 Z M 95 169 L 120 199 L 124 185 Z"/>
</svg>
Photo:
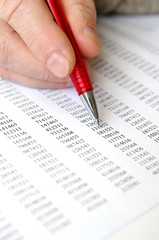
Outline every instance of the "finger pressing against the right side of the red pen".
<svg viewBox="0 0 159 240">
<path fill-rule="evenodd" d="M 96 32 L 96 9 L 93 0 L 61 0 L 78 46 L 84 57 L 91 58 L 101 49 Z"/>
</svg>

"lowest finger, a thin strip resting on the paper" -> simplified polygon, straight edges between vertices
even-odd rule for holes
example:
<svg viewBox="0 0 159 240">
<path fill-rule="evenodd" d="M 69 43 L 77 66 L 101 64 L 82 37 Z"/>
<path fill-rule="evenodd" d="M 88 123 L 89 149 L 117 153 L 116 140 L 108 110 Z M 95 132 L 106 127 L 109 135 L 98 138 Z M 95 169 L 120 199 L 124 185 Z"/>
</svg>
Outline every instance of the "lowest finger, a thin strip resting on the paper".
<svg viewBox="0 0 159 240">
<path fill-rule="evenodd" d="M 59 88 L 68 88 L 72 87 L 73 83 L 71 80 L 63 81 L 63 82 L 52 82 L 48 80 L 39 80 L 31 77 L 27 77 L 8 69 L 0 67 L 0 78 L 4 78 L 10 81 L 13 81 L 18 84 L 22 84 L 27 87 L 32 88 L 51 88 L 51 89 L 59 89 Z"/>
</svg>

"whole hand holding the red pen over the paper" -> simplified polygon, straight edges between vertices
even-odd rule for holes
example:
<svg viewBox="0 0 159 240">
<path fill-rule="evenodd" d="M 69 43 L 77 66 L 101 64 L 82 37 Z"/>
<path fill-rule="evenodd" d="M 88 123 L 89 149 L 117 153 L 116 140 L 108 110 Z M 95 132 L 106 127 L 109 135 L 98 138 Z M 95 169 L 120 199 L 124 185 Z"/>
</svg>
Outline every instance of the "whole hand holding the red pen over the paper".
<svg viewBox="0 0 159 240">
<path fill-rule="evenodd" d="M 85 58 L 100 50 L 93 0 L 61 0 Z M 0 0 L 0 77 L 38 88 L 72 86 L 72 46 L 44 0 Z"/>
</svg>

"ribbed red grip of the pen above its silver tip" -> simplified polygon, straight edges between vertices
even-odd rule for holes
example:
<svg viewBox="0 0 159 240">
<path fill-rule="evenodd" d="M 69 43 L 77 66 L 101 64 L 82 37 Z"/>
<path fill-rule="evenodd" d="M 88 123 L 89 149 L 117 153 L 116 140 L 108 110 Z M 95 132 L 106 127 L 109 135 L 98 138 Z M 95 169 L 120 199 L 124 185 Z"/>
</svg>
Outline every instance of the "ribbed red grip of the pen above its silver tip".
<svg viewBox="0 0 159 240">
<path fill-rule="evenodd" d="M 84 62 L 77 62 L 73 72 L 70 74 L 72 82 L 76 88 L 78 95 L 92 91 L 92 83 Z"/>
</svg>

